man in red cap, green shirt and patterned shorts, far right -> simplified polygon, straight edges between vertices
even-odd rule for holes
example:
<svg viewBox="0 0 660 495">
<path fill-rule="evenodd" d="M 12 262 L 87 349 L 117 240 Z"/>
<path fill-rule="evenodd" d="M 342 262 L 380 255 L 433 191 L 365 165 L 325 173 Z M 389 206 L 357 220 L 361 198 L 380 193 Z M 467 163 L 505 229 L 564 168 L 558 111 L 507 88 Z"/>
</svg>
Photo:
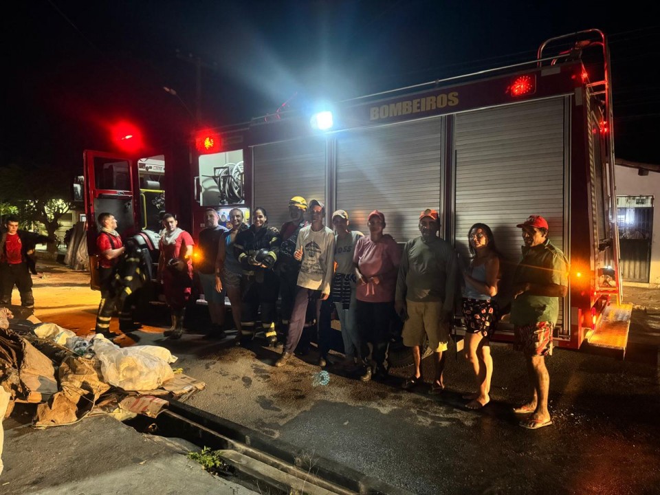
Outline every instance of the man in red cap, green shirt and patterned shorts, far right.
<svg viewBox="0 0 660 495">
<path fill-rule="evenodd" d="M 559 314 L 559 298 L 568 290 L 568 262 L 564 253 L 548 240 L 548 222 L 531 215 L 516 227 L 522 229 L 522 259 L 513 278 L 511 323 L 516 349 L 525 354 L 532 399 L 516 414 L 529 414 L 522 428 L 536 430 L 552 424 L 548 411 L 550 375 L 545 356 L 552 354 L 552 332 Z"/>
</svg>

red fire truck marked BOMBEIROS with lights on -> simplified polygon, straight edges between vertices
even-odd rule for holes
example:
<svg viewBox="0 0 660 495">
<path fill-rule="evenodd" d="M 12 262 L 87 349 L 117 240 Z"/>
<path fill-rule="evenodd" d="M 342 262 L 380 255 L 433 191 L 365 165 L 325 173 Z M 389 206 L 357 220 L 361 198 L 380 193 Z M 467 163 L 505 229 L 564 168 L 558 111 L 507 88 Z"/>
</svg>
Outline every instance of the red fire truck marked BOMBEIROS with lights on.
<svg viewBox="0 0 660 495">
<path fill-rule="evenodd" d="M 522 244 L 516 224 L 540 214 L 570 265 L 555 343 L 625 353 L 632 307 L 618 269 L 611 95 L 604 33 L 557 36 L 527 62 L 336 102 L 314 116 L 291 110 L 204 129 L 188 151 L 142 160 L 87 151 L 88 218 L 107 210 L 120 225 L 157 228 L 148 192 L 164 191 L 166 209 L 197 236 L 206 208 L 223 219 L 233 207 L 263 207 L 278 227 L 289 199 L 303 196 L 347 210 L 363 232 L 380 210 L 403 244 L 419 235 L 419 212 L 434 208 L 441 236 L 462 256 L 472 224 L 492 228 L 506 305 L 506 272 Z M 155 162 L 162 175 L 147 168 Z M 506 316 L 495 338 L 513 339 Z"/>
</svg>

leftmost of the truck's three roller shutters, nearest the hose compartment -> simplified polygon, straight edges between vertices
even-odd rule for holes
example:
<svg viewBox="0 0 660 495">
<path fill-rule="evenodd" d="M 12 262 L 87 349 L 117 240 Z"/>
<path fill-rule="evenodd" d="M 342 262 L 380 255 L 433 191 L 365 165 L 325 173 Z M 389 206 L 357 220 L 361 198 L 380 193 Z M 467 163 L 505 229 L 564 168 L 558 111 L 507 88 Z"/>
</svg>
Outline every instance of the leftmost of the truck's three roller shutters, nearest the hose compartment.
<svg viewBox="0 0 660 495">
<path fill-rule="evenodd" d="M 320 138 L 263 144 L 252 148 L 252 208 L 263 207 L 268 223 L 281 228 L 289 220 L 289 199 L 326 201 L 326 142 Z"/>
</svg>

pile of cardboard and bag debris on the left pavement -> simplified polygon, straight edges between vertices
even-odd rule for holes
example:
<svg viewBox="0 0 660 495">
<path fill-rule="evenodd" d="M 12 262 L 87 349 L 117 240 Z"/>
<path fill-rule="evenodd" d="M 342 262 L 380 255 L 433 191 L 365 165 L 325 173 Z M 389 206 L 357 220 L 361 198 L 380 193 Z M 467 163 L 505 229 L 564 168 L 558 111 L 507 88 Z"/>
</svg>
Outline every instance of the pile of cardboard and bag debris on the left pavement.
<svg viewBox="0 0 660 495">
<path fill-rule="evenodd" d="M 76 423 L 93 415 L 155 417 L 168 399 L 185 400 L 206 384 L 180 373 L 157 346 L 124 349 L 103 336 L 78 337 L 54 323 L 13 318 L 0 308 L 0 388 L 14 404 L 35 404 L 33 426 Z"/>
</svg>

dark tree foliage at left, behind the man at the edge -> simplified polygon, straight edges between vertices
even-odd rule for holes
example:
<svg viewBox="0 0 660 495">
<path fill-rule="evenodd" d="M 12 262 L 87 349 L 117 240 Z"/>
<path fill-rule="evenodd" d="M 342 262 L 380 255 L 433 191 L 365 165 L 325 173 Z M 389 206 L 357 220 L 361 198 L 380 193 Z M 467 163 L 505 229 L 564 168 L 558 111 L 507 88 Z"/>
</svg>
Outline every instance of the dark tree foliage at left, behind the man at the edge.
<svg viewBox="0 0 660 495">
<path fill-rule="evenodd" d="M 45 164 L 10 164 L 0 167 L 0 177 L 0 205 L 17 207 L 22 223 L 42 223 L 54 239 L 59 219 L 72 207 L 69 173 Z"/>
</svg>

